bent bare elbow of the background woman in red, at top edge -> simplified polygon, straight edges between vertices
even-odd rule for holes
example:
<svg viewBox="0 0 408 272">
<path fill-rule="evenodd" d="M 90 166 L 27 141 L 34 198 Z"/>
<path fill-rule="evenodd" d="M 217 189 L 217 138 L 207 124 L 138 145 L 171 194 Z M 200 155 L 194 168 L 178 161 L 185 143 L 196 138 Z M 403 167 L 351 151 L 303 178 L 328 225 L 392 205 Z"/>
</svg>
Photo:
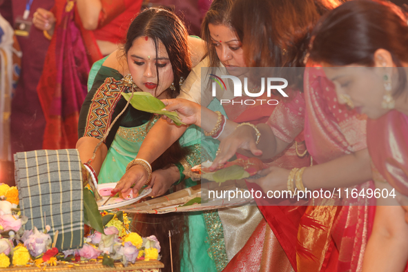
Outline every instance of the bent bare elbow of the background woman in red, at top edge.
<svg viewBox="0 0 408 272">
<path fill-rule="evenodd" d="M 86 30 L 95 30 L 98 27 L 99 13 L 102 10 L 100 0 L 77 0 L 79 17 Z"/>
</svg>

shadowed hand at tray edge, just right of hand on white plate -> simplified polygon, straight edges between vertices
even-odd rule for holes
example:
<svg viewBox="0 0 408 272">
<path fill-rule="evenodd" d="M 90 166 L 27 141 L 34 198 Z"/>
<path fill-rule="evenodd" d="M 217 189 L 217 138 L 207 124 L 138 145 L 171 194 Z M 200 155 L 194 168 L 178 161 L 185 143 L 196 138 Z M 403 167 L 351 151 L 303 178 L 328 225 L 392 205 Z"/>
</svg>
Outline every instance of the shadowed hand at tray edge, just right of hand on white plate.
<svg viewBox="0 0 408 272">
<path fill-rule="evenodd" d="M 153 172 L 152 180 L 147 188 L 152 188 L 148 196 L 157 197 L 164 195 L 168 189 L 179 180 L 179 169 L 176 166 L 167 169 L 159 169 Z"/>
</svg>

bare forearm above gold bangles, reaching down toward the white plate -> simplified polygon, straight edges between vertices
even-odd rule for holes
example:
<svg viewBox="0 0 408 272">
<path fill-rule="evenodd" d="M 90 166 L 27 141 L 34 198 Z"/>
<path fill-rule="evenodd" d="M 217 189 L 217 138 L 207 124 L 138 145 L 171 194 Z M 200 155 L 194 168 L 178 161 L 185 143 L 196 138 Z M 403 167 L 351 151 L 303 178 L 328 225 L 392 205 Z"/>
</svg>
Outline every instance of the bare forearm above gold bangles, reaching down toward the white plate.
<svg viewBox="0 0 408 272">
<path fill-rule="evenodd" d="M 183 135 L 186 129 L 187 126 L 175 126 L 168 124 L 164 119 L 159 119 L 144 138 L 137 157 L 153 163 Z"/>
</svg>

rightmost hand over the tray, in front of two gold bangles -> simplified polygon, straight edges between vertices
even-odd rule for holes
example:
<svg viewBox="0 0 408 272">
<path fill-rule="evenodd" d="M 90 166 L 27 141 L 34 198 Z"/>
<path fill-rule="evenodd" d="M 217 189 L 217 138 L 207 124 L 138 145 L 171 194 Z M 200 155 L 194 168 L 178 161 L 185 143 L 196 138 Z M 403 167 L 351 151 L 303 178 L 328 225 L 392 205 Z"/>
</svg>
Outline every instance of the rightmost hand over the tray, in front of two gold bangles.
<svg viewBox="0 0 408 272">
<path fill-rule="evenodd" d="M 285 168 L 271 166 L 259 172 L 264 176 L 259 179 L 246 179 L 246 182 L 258 184 L 264 193 L 268 191 L 287 191 L 287 182 L 291 171 Z"/>
</svg>

